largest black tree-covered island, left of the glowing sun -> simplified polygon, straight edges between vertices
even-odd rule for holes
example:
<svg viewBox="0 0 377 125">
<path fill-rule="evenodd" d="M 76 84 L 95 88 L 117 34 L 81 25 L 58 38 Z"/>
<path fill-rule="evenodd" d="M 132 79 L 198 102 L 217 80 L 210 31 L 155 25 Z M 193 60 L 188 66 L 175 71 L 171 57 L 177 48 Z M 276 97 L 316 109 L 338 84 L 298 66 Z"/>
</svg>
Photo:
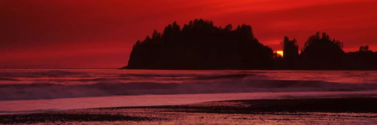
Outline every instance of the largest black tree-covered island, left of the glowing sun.
<svg viewBox="0 0 377 125">
<path fill-rule="evenodd" d="M 128 69 L 265 69 L 272 49 L 261 44 L 250 25 L 232 29 L 212 21 L 195 19 L 182 28 L 173 22 L 163 33 L 133 46 Z"/>
</svg>

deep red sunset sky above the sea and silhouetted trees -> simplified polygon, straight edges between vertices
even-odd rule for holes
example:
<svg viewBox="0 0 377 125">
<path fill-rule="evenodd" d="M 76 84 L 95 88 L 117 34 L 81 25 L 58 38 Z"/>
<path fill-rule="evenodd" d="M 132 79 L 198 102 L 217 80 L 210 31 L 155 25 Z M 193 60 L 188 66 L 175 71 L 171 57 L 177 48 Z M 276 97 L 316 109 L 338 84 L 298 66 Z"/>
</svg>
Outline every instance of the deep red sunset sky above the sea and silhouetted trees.
<svg viewBox="0 0 377 125">
<path fill-rule="evenodd" d="M 116 68 L 132 45 L 177 21 L 250 24 L 260 42 L 301 48 L 317 31 L 377 50 L 377 0 L 1 0 L 0 67 Z"/>
</svg>

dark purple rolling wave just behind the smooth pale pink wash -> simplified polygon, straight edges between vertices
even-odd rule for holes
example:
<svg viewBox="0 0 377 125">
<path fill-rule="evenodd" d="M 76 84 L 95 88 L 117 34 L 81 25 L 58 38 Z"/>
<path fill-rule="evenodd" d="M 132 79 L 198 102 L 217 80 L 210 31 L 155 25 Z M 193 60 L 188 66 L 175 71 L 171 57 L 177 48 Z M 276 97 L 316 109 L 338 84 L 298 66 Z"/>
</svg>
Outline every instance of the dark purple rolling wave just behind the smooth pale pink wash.
<svg viewBox="0 0 377 125">
<path fill-rule="evenodd" d="M 52 99 L 140 94 L 191 94 L 234 92 L 359 91 L 377 89 L 374 84 L 348 84 L 303 80 L 217 80 L 183 83 L 98 82 L 0 84 L 0 100 Z"/>
</svg>

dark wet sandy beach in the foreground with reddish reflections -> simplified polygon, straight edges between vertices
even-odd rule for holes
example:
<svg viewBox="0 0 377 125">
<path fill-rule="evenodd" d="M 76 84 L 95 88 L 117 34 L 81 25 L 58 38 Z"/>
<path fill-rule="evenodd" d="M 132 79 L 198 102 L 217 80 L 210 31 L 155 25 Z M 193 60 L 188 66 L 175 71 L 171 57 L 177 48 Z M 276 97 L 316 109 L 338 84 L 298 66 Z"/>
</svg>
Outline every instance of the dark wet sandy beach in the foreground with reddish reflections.
<svg viewBox="0 0 377 125">
<path fill-rule="evenodd" d="M 340 122 L 341 121 L 341 122 Z M 377 123 L 377 97 L 211 101 L 0 115 L 0 124 Z"/>
</svg>

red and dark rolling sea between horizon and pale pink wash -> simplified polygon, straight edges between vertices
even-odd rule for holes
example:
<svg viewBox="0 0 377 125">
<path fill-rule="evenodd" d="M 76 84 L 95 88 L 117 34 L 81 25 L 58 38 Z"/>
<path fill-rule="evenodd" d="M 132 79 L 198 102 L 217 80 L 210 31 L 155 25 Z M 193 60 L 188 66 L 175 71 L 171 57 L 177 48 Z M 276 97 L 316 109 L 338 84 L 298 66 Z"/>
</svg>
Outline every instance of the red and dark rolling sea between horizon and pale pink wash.
<svg viewBox="0 0 377 125">
<path fill-rule="evenodd" d="M 362 91 L 377 71 L 0 69 L 0 100 L 141 94 Z"/>
</svg>

